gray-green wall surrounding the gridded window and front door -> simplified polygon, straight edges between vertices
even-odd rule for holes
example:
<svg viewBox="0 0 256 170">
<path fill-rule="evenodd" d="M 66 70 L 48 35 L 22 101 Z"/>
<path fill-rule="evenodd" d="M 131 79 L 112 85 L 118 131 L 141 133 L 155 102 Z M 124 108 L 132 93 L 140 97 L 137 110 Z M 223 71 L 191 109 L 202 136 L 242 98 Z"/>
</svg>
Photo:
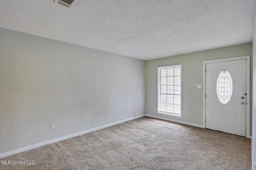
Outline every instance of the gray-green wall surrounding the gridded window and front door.
<svg viewBox="0 0 256 170">
<path fill-rule="evenodd" d="M 202 125 L 203 88 L 197 84 L 203 84 L 203 61 L 248 55 L 252 56 L 252 43 L 146 61 L 146 114 Z M 157 67 L 173 64 L 182 64 L 182 118 L 156 113 Z"/>
</svg>

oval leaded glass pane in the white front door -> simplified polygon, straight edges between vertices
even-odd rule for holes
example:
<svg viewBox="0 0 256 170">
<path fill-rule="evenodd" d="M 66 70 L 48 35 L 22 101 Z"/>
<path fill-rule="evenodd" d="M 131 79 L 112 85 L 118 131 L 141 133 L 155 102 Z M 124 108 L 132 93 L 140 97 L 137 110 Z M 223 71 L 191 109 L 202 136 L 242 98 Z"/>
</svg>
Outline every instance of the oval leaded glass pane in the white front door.
<svg viewBox="0 0 256 170">
<path fill-rule="evenodd" d="M 216 92 L 218 100 L 222 104 L 227 104 L 232 96 L 233 81 L 228 70 L 222 70 L 217 78 Z"/>
</svg>

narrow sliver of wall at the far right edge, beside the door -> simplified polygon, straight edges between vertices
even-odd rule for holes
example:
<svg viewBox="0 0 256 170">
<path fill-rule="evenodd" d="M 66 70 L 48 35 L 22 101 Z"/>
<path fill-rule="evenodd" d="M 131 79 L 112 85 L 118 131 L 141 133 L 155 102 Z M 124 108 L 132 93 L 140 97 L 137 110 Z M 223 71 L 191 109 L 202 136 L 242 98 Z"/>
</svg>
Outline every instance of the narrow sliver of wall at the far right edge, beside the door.
<svg viewBox="0 0 256 170">
<path fill-rule="evenodd" d="M 253 27 L 253 41 L 252 41 L 252 170 L 256 170 L 256 3 L 254 4 L 254 27 Z"/>
</svg>

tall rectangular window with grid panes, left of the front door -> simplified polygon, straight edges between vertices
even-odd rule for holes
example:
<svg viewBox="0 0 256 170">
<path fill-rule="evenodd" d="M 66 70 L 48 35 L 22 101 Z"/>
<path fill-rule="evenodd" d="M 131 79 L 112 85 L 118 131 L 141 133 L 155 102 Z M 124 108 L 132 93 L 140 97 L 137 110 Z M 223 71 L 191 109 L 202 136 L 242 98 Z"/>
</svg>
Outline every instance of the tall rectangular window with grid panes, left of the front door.
<svg viewBox="0 0 256 170">
<path fill-rule="evenodd" d="M 181 64 L 158 67 L 158 113 L 181 117 Z"/>
</svg>

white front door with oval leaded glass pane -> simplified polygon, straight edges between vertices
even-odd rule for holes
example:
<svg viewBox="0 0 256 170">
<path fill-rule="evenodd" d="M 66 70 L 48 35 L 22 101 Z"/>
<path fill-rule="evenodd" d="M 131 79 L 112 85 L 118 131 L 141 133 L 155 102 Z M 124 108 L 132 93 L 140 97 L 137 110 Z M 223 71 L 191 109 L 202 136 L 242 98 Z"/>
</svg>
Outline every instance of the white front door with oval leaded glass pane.
<svg viewBox="0 0 256 170">
<path fill-rule="evenodd" d="M 246 136 L 246 59 L 206 64 L 206 128 Z"/>
</svg>

